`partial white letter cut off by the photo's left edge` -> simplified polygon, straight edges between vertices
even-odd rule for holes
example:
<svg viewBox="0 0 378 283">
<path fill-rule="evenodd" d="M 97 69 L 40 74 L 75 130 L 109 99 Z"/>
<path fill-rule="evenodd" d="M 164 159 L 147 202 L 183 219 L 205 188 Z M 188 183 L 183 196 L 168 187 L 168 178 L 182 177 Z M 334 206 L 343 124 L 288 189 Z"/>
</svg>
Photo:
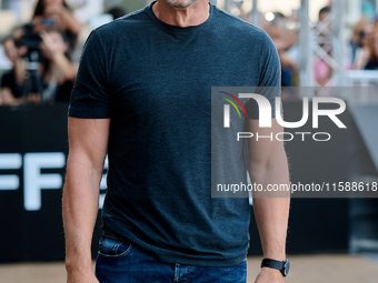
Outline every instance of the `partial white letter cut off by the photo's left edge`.
<svg viewBox="0 0 378 283">
<path fill-rule="evenodd" d="M 0 154 L 0 170 L 17 170 L 22 166 L 22 156 L 20 153 Z M 20 179 L 16 174 L 0 175 L 0 191 L 12 191 L 20 186 Z"/>
</svg>

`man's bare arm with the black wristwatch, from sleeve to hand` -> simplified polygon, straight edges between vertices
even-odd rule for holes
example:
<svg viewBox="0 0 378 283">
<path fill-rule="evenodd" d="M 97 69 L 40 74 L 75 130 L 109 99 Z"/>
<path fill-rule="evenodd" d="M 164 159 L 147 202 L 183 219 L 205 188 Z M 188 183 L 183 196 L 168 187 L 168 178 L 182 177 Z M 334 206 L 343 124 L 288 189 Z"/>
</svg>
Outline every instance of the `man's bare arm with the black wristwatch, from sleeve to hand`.
<svg viewBox="0 0 378 283">
<path fill-rule="evenodd" d="M 288 162 L 284 142 L 276 140 L 276 133 L 282 132 L 276 119 L 271 128 L 259 128 L 258 120 L 249 120 L 249 131 L 259 135 L 272 134 L 270 139 L 250 139 L 249 172 L 252 183 L 289 184 Z M 276 195 L 277 194 L 277 195 Z M 279 196 L 279 198 L 276 198 Z M 286 196 L 286 198 L 285 198 Z M 253 211 L 259 230 L 263 257 L 284 261 L 286 259 L 286 235 L 289 218 L 289 193 L 262 192 L 253 193 Z M 284 282 L 278 270 L 263 267 L 257 277 L 257 283 Z"/>
</svg>

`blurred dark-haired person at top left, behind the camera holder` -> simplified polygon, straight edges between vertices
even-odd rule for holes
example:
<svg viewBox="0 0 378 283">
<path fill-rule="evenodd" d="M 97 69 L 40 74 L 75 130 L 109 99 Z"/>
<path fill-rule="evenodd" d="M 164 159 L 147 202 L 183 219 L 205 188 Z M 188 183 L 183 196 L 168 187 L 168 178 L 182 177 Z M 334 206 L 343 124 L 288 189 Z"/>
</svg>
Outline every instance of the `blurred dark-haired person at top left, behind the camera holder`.
<svg viewBox="0 0 378 283">
<path fill-rule="evenodd" d="M 38 0 L 32 21 L 39 24 L 46 19 L 53 22 L 54 29 L 64 33 L 69 42 L 69 52 L 71 52 L 82 26 L 73 17 L 67 2 L 64 0 Z"/>
</svg>

